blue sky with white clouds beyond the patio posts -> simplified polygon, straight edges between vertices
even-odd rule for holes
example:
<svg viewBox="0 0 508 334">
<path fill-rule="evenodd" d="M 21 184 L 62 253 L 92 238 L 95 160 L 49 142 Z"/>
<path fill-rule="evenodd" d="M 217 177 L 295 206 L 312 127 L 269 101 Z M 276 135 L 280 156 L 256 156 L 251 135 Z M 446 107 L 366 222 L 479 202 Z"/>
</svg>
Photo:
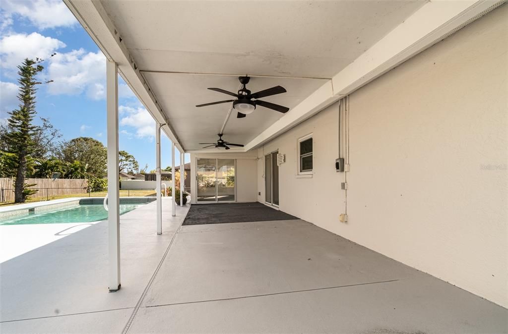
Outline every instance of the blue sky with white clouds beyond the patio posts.
<svg viewBox="0 0 508 334">
<path fill-rule="evenodd" d="M 106 145 L 106 58 L 60 0 L 0 2 L 0 121 L 17 107 L 16 66 L 25 58 L 48 59 L 37 92 L 37 113 L 63 139 L 92 137 Z M 140 168 L 155 168 L 155 123 L 119 77 L 119 148 Z M 38 119 L 39 120 L 39 119 Z M 171 165 L 171 142 L 162 134 L 162 166 Z M 188 162 L 188 154 L 185 162 Z M 175 164 L 179 164 L 177 155 Z"/>
</svg>

